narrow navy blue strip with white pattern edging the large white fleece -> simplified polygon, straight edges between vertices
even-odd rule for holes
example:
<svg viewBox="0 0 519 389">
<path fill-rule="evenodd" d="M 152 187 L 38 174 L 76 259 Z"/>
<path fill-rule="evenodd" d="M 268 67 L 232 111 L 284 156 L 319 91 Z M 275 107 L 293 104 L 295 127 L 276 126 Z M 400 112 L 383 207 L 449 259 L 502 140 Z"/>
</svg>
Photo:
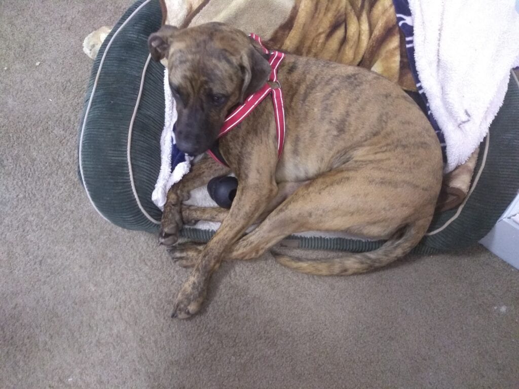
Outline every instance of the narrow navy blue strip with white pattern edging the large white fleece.
<svg viewBox="0 0 519 389">
<path fill-rule="evenodd" d="M 416 72 L 413 16 L 411 15 L 411 9 L 409 9 L 409 3 L 407 0 L 393 0 L 393 5 L 394 10 L 397 13 L 398 26 L 405 36 L 405 49 L 407 51 L 409 67 L 411 68 L 411 73 L 413 73 L 413 78 L 415 79 L 416 88 L 418 89 L 418 93 L 420 94 L 421 99 L 424 101 L 424 104 L 427 107 L 426 115 L 431 122 L 432 128 L 436 132 L 436 136 L 438 136 L 440 145 L 442 146 L 443 162 L 447 162 L 445 138 L 443 136 L 442 130 L 440 129 L 440 126 L 438 126 L 438 123 L 432 116 L 431 108 L 429 107 L 429 101 L 427 100 L 424 88 L 421 87 L 421 82 L 418 78 L 418 73 Z"/>
</svg>

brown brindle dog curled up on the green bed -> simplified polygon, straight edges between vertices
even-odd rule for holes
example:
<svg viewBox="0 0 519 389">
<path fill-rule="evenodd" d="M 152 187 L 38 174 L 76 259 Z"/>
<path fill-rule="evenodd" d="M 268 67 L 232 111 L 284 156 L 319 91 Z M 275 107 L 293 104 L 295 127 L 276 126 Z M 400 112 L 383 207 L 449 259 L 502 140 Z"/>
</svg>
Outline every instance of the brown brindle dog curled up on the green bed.
<svg viewBox="0 0 519 389">
<path fill-rule="evenodd" d="M 176 141 L 200 154 L 216 141 L 226 115 L 267 81 L 270 66 L 243 32 L 221 23 L 163 26 L 148 39 L 153 59 L 168 61 L 176 101 Z M 183 223 L 222 221 L 205 246 L 171 249 L 194 266 L 173 317 L 195 314 L 223 259 L 252 259 L 301 231 L 346 231 L 388 241 L 368 253 L 284 266 L 309 274 L 361 273 L 402 257 L 425 234 L 440 191 L 438 138 L 397 85 L 360 67 L 287 54 L 279 67 L 286 136 L 278 160 L 274 109 L 265 99 L 220 140 L 230 170 L 210 158 L 195 164 L 167 197 L 159 241 L 173 246 Z M 188 192 L 232 171 L 238 190 L 229 211 L 182 206 Z M 243 235 L 253 223 L 261 223 Z"/>
</svg>

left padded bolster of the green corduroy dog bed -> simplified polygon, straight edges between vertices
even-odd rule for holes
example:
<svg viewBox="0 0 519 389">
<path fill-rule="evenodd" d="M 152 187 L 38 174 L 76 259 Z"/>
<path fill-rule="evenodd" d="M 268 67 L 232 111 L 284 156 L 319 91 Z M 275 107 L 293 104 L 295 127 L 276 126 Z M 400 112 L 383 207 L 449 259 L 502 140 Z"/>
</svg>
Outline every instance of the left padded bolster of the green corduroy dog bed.
<svg viewBox="0 0 519 389">
<path fill-rule="evenodd" d="M 158 0 L 139 0 L 94 61 L 79 125 L 79 175 L 95 210 L 128 229 L 156 231 L 151 195 L 160 168 L 163 66 L 147 38 L 161 24 Z"/>
</svg>

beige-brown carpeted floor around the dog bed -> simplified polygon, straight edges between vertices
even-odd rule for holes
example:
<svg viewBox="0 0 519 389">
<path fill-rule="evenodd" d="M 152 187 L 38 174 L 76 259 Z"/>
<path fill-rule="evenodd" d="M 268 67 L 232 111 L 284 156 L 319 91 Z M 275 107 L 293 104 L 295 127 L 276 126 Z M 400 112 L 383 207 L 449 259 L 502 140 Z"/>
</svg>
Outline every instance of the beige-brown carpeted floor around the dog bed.
<svg viewBox="0 0 519 389">
<path fill-rule="evenodd" d="M 0 388 L 518 387 L 519 272 L 479 246 L 346 278 L 226 263 L 171 319 L 187 271 L 76 177 L 81 42 L 129 5 L 0 2 Z"/>
</svg>

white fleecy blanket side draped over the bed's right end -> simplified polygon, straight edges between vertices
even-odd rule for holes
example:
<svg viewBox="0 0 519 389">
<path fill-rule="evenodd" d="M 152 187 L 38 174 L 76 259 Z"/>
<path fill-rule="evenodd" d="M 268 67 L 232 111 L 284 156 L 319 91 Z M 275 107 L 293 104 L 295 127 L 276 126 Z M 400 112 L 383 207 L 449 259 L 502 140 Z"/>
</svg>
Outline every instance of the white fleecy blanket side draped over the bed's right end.
<svg viewBox="0 0 519 389">
<path fill-rule="evenodd" d="M 446 171 L 464 163 L 488 132 L 519 66 L 515 0 L 409 0 L 415 60 L 447 144 Z"/>
</svg>

